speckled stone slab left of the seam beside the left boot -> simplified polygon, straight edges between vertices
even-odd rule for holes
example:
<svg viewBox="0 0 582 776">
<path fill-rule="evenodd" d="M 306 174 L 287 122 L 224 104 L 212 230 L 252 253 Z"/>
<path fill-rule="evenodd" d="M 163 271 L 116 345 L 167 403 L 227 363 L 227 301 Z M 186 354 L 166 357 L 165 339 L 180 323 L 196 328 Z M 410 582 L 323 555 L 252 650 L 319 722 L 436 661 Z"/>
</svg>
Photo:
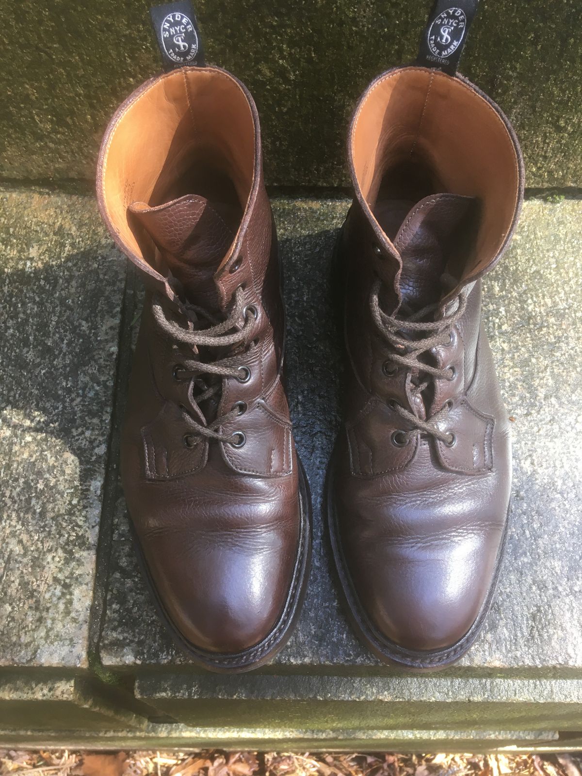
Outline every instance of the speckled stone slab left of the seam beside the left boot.
<svg viewBox="0 0 582 776">
<path fill-rule="evenodd" d="M 0 191 L 0 667 L 88 668 L 125 273 L 92 198 Z"/>
</svg>

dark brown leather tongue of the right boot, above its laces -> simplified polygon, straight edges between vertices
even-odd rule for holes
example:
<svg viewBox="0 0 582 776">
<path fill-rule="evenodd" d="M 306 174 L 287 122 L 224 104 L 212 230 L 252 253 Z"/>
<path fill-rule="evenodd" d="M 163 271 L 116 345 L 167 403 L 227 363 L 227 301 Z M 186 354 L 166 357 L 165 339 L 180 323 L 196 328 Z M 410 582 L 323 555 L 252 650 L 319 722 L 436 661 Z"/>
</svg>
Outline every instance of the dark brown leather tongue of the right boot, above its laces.
<svg viewBox="0 0 582 776">
<path fill-rule="evenodd" d="M 459 227 L 474 202 L 474 197 L 434 194 L 416 205 L 384 200 L 378 208 L 376 218 L 402 259 L 402 301 L 413 310 L 438 302 L 445 292 L 441 276 L 453 258 Z"/>
</svg>

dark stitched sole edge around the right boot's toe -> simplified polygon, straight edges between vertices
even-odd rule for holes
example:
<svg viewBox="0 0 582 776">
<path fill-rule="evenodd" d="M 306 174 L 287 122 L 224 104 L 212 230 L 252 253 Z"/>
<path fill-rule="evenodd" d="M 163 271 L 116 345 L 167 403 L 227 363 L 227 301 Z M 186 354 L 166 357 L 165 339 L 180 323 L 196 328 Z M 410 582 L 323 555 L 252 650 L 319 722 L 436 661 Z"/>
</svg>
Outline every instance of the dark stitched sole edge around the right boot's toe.
<svg viewBox="0 0 582 776">
<path fill-rule="evenodd" d="M 494 577 L 491 580 L 490 588 L 487 593 L 487 598 L 483 602 L 479 615 L 473 625 L 466 632 L 462 639 L 459 639 L 451 646 L 445 647 L 442 650 L 407 650 L 397 643 L 386 639 L 375 626 L 370 622 L 368 615 L 365 612 L 362 604 L 359 601 L 358 595 L 352 584 L 352 579 L 348 572 L 348 566 L 345 562 L 344 554 L 341 550 L 341 541 L 338 535 L 338 520 L 334 506 L 334 456 L 331 457 L 329 467 L 327 469 L 327 482 L 326 482 L 326 511 L 327 511 L 327 528 L 329 531 L 329 537 L 331 541 L 331 552 L 334 556 L 335 569 L 338 575 L 339 588 L 342 594 L 344 608 L 348 615 L 348 619 L 352 624 L 352 628 L 355 631 L 356 636 L 379 660 L 389 665 L 405 668 L 417 673 L 431 670 L 441 670 L 456 663 L 457 660 L 469 650 L 470 646 L 474 643 L 477 636 L 479 636 L 483 625 L 487 618 L 487 614 L 491 608 L 491 604 L 494 599 L 495 588 L 497 587 L 497 580 L 501 570 L 501 564 L 504 556 L 505 543 L 508 536 L 509 525 L 509 511 L 505 520 L 504 533 L 501 538 L 501 544 L 497 551 L 497 559 L 495 562 Z M 414 612 L 411 612 L 411 616 L 414 616 Z"/>
</svg>

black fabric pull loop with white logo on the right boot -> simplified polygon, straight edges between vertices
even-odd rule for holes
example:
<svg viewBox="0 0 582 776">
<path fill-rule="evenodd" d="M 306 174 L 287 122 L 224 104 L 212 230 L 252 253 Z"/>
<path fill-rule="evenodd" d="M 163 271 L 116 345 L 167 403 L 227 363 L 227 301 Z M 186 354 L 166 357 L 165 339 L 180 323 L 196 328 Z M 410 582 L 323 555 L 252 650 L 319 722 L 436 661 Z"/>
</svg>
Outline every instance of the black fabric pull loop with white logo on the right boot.
<svg viewBox="0 0 582 776">
<path fill-rule="evenodd" d="M 454 75 L 478 3 L 479 0 L 435 0 L 416 64 Z"/>
</svg>

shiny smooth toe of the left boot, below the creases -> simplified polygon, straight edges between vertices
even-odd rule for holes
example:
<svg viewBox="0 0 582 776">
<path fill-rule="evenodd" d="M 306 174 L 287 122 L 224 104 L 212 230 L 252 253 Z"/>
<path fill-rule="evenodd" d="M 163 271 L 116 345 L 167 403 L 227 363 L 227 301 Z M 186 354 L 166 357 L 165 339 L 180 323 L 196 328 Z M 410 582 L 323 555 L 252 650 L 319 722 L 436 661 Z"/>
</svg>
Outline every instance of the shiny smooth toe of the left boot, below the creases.
<svg viewBox="0 0 582 776">
<path fill-rule="evenodd" d="M 142 544 L 156 597 L 186 646 L 236 654 L 274 629 L 295 562 L 280 532 L 244 539 L 166 533 Z"/>
</svg>

